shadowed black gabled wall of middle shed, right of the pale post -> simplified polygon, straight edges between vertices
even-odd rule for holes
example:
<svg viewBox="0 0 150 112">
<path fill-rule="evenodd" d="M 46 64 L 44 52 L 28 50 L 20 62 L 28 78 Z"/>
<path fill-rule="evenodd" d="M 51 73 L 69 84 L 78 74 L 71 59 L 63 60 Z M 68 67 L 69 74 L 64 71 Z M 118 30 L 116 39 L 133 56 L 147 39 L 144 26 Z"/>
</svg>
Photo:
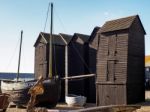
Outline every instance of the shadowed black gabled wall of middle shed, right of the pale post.
<svg viewBox="0 0 150 112">
<path fill-rule="evenodd" d="M 84 46 L 82 40 L 75 36 L 69 44 L 68 51 L 69 76 L 84 74 Z M 69 81 L 68 88 L 69 94 L 85 94 L 84 80 Z"/>
</svg>

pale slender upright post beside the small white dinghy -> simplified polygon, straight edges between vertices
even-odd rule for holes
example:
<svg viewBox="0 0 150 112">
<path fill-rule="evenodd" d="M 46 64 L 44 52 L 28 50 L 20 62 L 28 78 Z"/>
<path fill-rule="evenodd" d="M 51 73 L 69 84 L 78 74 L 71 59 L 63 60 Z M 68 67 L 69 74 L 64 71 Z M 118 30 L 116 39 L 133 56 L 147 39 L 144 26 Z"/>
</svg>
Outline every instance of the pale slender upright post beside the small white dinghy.
<svg viewBox="0 0 150 112">
<path fill-rule="evenodd" d="M 65 45 L 65 96 L 68 95 L 68 46 Z"/>
</svg>

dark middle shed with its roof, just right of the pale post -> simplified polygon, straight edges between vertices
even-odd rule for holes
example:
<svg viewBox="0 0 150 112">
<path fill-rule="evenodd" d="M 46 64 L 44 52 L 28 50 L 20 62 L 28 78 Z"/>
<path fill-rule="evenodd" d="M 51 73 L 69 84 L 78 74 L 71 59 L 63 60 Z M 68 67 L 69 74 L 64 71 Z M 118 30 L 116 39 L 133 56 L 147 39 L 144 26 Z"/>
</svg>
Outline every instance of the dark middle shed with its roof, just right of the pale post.
<svg viewBox="0 0 150 112">
<path fill-rule="evenodd" d="M 88 65 L 85 55 L 88 52 L 85 47 L 88 39 L 88 35 L 74 33 L 71 41 L 68 43 L 68 76 L 86 74 L 86 67 Z M 85 92 L 86 87 L 87 85 L 84 79 L 72 80 L 68 82 L 68 93 L 87 96 Z"/>
</svg>

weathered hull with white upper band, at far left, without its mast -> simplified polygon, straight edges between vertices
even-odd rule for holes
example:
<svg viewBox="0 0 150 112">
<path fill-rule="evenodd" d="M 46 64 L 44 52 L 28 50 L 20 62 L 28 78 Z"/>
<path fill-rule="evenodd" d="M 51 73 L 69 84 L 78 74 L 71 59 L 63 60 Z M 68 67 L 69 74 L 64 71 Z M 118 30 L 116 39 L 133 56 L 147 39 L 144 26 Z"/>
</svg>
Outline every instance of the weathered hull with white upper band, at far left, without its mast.
<svg viewBox="0 0 150 112">
<path fill-rule="evenodd" d="M 17 106 L 25 106 L 30 99 L 28 91 L 35 82 L 36 80 L 26 82 L 2 81 L 1 91 L 10 94 L 10 101 Z"/>
</svg>

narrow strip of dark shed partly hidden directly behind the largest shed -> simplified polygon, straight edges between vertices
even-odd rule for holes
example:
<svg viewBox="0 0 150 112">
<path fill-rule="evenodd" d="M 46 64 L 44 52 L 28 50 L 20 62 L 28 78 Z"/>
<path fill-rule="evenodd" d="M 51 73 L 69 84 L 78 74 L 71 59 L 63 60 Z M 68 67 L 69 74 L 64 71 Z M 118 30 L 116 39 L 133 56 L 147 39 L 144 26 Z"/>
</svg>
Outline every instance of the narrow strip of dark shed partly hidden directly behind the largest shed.
<svg viewBox="0 0 150 112">
<path fill-rule="evenodd" d="M 97 56 L 97 44 L 98 40 L 96 38 L 96 34 L 99 31 L 100 27 L 95 27 L 90 35 L 90 38 L 88 40 L 88 47 L 86 48 L 88 50 L 87 56 L 87 73 L 88 74 L 96 74 L 96 56 Z M 96 103 L 96 84 L 95 84 L 95 77 L 90 77 L 85 79 L 86 82 L 86 91 L 87 96 L 89 96 L 87 99 L 89 102 Z"/>
</svg>

